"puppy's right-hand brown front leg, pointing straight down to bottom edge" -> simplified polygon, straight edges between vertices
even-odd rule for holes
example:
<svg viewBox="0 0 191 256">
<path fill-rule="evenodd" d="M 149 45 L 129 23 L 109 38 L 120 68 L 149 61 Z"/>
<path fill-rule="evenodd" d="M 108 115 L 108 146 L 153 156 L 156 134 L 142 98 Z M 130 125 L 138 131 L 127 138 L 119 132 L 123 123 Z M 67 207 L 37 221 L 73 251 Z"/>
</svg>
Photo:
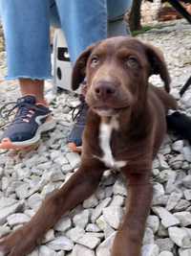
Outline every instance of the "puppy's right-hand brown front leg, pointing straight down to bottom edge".
<svg viewBox="0 0 191 256">
<path fill-rule="evenodd" d="M 140 256 L 145 221 L 152 200 L 150 175 L 128 175 L 126 214 L 114 241 L 112 256 Z"/>
</svg>

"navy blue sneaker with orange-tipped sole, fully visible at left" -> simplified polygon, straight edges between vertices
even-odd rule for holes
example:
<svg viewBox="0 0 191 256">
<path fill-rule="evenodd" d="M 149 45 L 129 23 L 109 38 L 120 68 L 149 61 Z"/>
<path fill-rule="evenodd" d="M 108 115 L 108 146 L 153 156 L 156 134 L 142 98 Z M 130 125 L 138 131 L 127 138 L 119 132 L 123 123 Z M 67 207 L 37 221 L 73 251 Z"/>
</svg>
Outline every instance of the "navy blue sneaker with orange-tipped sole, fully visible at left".
<svg viewBox="0 0 191 256">
<path fill-rule="evenodd" d="M 13 107 L 7 110 L 7 106 L 11 104 L 14 104 Z M 15 108 L 17 109 L 15 117 L 3 133 L 0 149 L 23 149 L 32 146 L 40 140 L 42 132 L 55 126 L 51 110 L 45 105 L 37 104 L 32 95 L 24 96 L 16 103 L 1 107 L 1 117 L 8 117 Z"/>
</svg>

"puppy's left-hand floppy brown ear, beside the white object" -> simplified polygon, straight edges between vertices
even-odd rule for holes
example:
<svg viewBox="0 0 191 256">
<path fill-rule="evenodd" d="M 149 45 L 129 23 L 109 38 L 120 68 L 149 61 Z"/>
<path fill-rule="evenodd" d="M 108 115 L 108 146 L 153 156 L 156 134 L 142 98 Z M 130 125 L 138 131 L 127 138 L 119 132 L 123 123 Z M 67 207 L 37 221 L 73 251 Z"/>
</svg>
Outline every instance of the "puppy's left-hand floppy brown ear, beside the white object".
<svg viewBox="0 0 191 256">
<path fill-rule="evenodd" d="M 79 84 L 84 81 L 86 76 L 86 64 L 89 56 L 91 55 L 95 44 L 89 46 L 75 61 L 74 68 L 72 72 L 72 89 L 76 90 L 79 87 Z"/>
</svg>

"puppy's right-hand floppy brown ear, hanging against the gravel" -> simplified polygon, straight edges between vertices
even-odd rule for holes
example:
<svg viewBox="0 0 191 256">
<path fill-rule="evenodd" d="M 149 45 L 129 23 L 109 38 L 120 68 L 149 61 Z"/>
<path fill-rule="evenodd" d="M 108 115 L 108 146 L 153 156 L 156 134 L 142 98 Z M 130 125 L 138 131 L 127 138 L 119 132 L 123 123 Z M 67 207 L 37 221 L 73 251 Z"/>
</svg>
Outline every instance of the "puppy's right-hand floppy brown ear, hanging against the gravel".
<svg viewBox="0 0 191 256">
<path fill-rule="evenodd" d="M 171 79 L 161 51 L 148 44 L 145 45 L 145 49 L 151 65 L 150 76 L 159 75 L 161 80 L 164 82 L 165 90 L 169 92 Z"/>
</svg>

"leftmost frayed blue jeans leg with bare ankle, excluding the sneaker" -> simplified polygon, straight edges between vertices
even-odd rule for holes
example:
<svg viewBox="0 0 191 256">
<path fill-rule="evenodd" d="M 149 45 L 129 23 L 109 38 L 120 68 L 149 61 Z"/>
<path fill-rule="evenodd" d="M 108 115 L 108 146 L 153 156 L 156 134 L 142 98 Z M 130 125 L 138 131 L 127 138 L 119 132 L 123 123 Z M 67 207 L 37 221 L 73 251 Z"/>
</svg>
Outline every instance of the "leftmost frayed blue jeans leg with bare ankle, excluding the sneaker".
<svg viewBox="0 0 191 256">
<path fill-rule="evenodd" d="M 42 101 L 44 79 L 51 77 L 49 0 L 2 0 L 0 9 L 6 39 L 7 79 L 19 80 L 22 96 L 32 94 Z"/>
</svg>

